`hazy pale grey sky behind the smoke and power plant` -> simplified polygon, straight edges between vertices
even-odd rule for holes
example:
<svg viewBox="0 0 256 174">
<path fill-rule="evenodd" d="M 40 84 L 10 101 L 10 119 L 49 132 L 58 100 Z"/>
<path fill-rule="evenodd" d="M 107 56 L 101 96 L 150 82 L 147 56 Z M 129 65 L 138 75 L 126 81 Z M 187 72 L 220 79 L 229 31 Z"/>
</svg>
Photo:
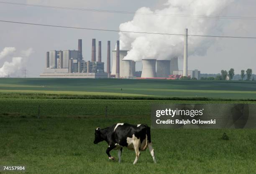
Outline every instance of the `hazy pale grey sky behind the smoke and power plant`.
<svg viewBox="0 0 256 174">
<path fill-rule="evenodd" d="M 191 0 L 183 1 L 191 2 Z M 161 10 L 165 7 L 167 0 L 11 0 L 8 2 L 99 10 L 136 11 L 141 7 Z M 225 7 L 215 15 L 256 17 L 255 7 L 255 0 L 234 0 L 228 7 Z M 0 20 L 119 30 L 120 24 L 133 20 L 134 15 L 0 4 L 0 16 Z M 150 16 L 147 17 L 147 20 L 150 20 Z M 175 21 L 184 20 L 183 17 L 175 18 L 177 18 Z M 216 28 L 216 30 L 211 30 L 211 33 L 207 34 L 256 37 L 256 20 L 214 19 L 212 22 L 220 22 L 223 25 L 221 26 L 221 33 Z M 178 34 L 183 34 L 183 32 L 184 30 Z M 25 69 L 27 70 L 27 77 L 39 77 L 39 74 L 43 72 L 46 66 L 45 57 L 47 51 L 77 50 L 78 39 L 83 40 L 84 60 L 91 59 L 92 38 L 96 38 L 97 41 L 101 40 L 102 61 L 106 62 L 107 41 L 111 41 L 111 49 L 113 50 L 116 40 L 119 39 L 118 32 L 64 29 L 4 22 L 0 22 L 0 33 L 0 52 L 5 47 L 15 48 L 15 51 L 0 59 L 0 68 L 3 67 L 5 62 L 12 62 L 14 57 L 23 57 L 23 60 L 25 60 L 23 66 L 13 72 L 10 75 L 11 77 L 23 77 L 23 70 Z M 251 68 L 256 73 L 256 39 L 207 38 L 207 40 L 214 41 L 210 47 L 207 47 L 205 54 L 189 55 L 189 70 L 198 69 L 201 73 L 210 74 L 234 68 L 235 73 L 238 74 L 242 69 Z M 181 55 L 179 57 L 180 68 L 183 66 L 182 61 Z M 141 70 L 141 63 L 136 65 L 136 70 Z"/>
</svg>

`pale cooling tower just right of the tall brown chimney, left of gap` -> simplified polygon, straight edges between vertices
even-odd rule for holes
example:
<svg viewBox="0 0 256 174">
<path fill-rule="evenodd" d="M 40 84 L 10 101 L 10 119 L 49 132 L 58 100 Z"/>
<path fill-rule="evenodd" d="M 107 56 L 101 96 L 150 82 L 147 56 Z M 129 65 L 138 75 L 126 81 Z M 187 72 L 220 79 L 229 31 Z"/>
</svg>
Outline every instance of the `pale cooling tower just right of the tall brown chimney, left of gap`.
<svg viewBox="0 0 256 174">
<path fill-rule="evenodd" d="M 122 60 L 123 75 L 121 78 L 132 78 L 135 76 L 135 62 L 133 60 Z"/>
</svg>

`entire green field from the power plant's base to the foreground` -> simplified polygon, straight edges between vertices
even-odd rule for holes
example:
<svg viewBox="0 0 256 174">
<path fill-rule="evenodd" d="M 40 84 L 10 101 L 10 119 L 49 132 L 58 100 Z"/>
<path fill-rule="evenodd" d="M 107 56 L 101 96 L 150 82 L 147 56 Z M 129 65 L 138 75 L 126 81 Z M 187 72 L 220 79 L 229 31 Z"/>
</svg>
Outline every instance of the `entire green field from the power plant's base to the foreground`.
<svg viewBox="0 0 256 174">
<path fill-rule="evenodd" d="M 25 165 L 31 174 L 255 173 L 255 129 L 151 129 L 157 164 L 146 150 L 134 166 L 128 149 L 112 162 L 107 143 L 93 144 L 96 127 L 151 125 L 152 104 L 256 104 L 227 100 L 255 93 L 251 82 L 0 79 L 0 165 Z"/>
</svg>

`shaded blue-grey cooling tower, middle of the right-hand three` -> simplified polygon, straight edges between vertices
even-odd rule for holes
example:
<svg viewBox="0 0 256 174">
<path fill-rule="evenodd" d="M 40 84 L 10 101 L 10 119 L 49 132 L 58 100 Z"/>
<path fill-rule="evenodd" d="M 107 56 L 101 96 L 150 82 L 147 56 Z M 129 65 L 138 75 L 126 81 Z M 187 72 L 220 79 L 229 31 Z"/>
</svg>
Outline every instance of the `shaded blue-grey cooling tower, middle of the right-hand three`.
<svg viewBox="0 0 256 174">
<path fill-rule="evenodd" d="M 169 77 L 170 60 L 156 60 L 156 77 Z"/>
</svg>

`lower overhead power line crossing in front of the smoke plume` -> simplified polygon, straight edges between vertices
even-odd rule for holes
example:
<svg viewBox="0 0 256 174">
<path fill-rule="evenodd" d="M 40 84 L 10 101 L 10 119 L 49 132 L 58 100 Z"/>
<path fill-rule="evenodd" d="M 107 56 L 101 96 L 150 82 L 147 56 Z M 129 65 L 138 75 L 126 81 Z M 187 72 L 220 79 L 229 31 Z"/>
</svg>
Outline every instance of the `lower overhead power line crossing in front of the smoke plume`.
<svg viewBox="0 0 256 174">
<path fill-rule="evenodd" d="M 37 26 L 45 26 L 45 27 L 61 27 L 61 28 L 70 28 L 70 29 L 81 29 L 81 30 L 97 30 L 97 31 L 108 31 L 108 32 L 128 32 L 128 33 L 153 34 L 153 35 L 184 36 L 184 34 L 174 34 L 174 33 L 108 30 L 108 29 L 99 29 L 99 28 L 84 28 L 84 27 L 70 27 L 70 26 L 61 26 L 61 25 L 36 24 L 36 23 L 27 23 L 27 22 L 15 22 L 15 21 L 8 21 L 8 20 L 0 20 L 0 22 L 8 22 L 8 23 L 15 23 L 15 24 L 25 24 L 25 25 L 37 25 Z M 221 38 L 233 38 L 233 39 L 256 39 L 256 37 L 216 36 L 216 35 L 215 36 L 214 35 L 188 35 L 188 36 L 195 36 L 195 37 L 221 37 Z"/>
</svg>

